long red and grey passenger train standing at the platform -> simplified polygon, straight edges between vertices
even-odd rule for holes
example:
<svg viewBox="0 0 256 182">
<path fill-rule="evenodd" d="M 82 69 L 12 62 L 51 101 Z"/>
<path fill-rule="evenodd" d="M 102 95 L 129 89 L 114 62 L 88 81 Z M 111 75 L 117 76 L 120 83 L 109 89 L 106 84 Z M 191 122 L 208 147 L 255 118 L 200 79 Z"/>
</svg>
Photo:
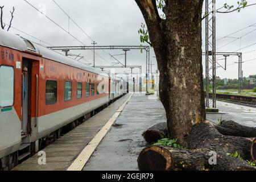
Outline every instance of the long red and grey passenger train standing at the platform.
<svg viewBox="0 0 256 182">
<path fill-rule="evenodd" d="M 0 52 L 0 170 L 129 92 L 114 74 L 4 30 Z"/>
</svg>

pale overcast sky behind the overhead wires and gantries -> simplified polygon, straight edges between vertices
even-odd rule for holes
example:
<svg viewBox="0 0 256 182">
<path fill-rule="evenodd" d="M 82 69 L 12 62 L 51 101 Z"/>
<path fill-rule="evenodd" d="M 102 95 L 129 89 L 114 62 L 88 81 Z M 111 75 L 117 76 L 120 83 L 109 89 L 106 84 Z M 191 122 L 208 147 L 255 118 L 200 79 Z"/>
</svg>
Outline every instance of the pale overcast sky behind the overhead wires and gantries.
<svg viewBox="0 0 256 182">
<path fill-rule="evenodd" d="M 89 35 L 86 36 L 79 28 L 75 26 L 71 21 L 68 24 L 68 16 L 63 13 L 56 6 L 52 0 L 45 1 L 36 1 L 36 0 L 27 0 L 32 5 L 40 10 L 46 10 L 47 16 L 54 20 L 61 27 L 75 36 L 77 39 L 81 40 L 82 43 L 86 46 L 90 46 L 91 42 L 95 40 L 98 46 L 137 46 L 141 43 L 139 42 L 138 29 L 141 26 L 141 23 L 144 22 L 141 11 L 139 10 L 137 4 L 134 0 L 55 0 L 66 12 L 67 14 L 75 20 L 77 24 Z M 237 1 L 234 0 L 217 0 L 216 8 L 222 7 L 225 2 L 229 4 L 236 4 Z M 255 0 L 249 0 L 249 3 L 255 2 Z M 72 38 L 71 35 L 68 35 L 65 31 L 61 30 L 60 27 L 52 23 L 46 17 L 40 15 L 38 11 L 33 9 L 25 1 L 21 0 L 1 0 L 0 5 L 4 5 L 4 15 L 3 20 L 5 23 L 9 23 L 10 13 L 9 11 L 15 6 L 15 14 L 13 20 L 13 27 L 26 32 L 36 38 L 43 40 L 53 46 L 81 46 L 81 43 Z M 44 8 L 45 7 L 45 8 Z M 230 14 L 217 14 L 217 32 L 216 36 L 222 38 L 230 33 L 233 33 L 242 28 L 248 27 L 251 24 L 256 23 L 256 6 L 247 7 L 245 10 L 242 10 L 240 13 L 230 13 Z M 205 22 L 203 21 L 203 45 L 205 40 L 204 35 L 204 26 Z M 69 26 L 68 26 L 69 25 Z M 30 36 L 24 35 L 22 32 L 16 31 L 11 28 L 10 32 L 14 34 L 19 34 L 24 36 L 27 39 L 35 40 Z M 250 32 L 250 33 L 249 33 Z M 249 34 L 247 34 L 249 33 Z M 240 38 L 241 39 L 235 39 Z M 240 48 L 250 46 L 251 44 L 256 43 L 256 24 L 246 28 L 243 31 L 238 32 L 237 34 L 232 35 L 234 38 L 225 38 L 217 41 L 217 51 L 218 52 L 233 52 Z M 225 44 L 235 40 L 232 44 L 224 46 Z M 43 43 L 45 44 L 45 43 Z M 145 44 L 146 45 L 146 44 Z M 47 45 L 48 46 L 48 45 Z M 222 47 L 224 46 L 224 47 Z M 222 48 L 220 48 L 222 47 Z M 203 51 L 205 47 L 203 46 Z M 256 49 L 256 44 L 244 49 L 241 49 L 239 52 L 245 53 L 243 55 L 243 76 L 249 76 L 256 74 L 256 52 L 253 51 Z M 250 53 L 246 53 L 253 51 Z M 93 62 L 93 52 L 91 51 L 73 51 L 71 53 L 78 54 L 81 53 L 85 56 L 85 59 L 90 63 Z M 96 55 L 96 65 L 110 65 L 109 63 L 116 62 L 114 61 L 108 53 L 112 55 L 118 55 L 123 53 L 121 50 L 108 50 L 108 51 L 97 51 L 98 55 L 104 57 L 103 60 L 101 57 Z M 151 60 L 153 72 L 156 70 L 156 60 L 154 57 L 154 51 L 151 49 Z M 121 62 L 124 61 L 124 56 L 116 56 Z M 221 57 L 222 58 L 222 57 Z M 220 59 L 221 59 L 220 58 Z M 251 60 L 251 61 L 247 61 Z M 108 63 L 108 62 L 109 63 Z M 203 58 L 203 65 L 204 58 Z M 237 57 L 230 57 L 228 59 L 228 65 L 237 61 Z M 223 60 L 218 60 L 218 62 L 224 65 Z M 140 51 L 130 51 L 127 53 L 127 65 L 142 65 L 143 72 L 146 70 L 146 54 L 141 53 Z M 119 69 L 117 72 L 127 71 L 126 69 Z M 133 72 L 139 72 L 138 69 L 134 69 Z M 217 76 L 221 78 L 237 78 L 238 77 L 238 65 L 229 65 L 226 71 L 221 68 L 217 69 Z"/>
</svg>

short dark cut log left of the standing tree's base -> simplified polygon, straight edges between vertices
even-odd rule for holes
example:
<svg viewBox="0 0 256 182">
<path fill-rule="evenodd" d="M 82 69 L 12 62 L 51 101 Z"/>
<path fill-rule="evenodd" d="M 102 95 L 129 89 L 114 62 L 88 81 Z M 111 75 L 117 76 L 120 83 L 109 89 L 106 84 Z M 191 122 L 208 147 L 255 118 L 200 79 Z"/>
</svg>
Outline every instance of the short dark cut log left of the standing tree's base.
<svg viewBox="0 0 256 182">
<path fill-rule="evenodd" d="M 167 136 L 167 135 L 168 135 L 168 129 L 167 129 L 166 122 L 158 123 L 150 127 L 150 129 L 147 129 L 146 131 L 144 131 L 144 133 L 142 134 L 142 136 L 148 143 L 157 142 L 163 136 Z"/>
</svg>

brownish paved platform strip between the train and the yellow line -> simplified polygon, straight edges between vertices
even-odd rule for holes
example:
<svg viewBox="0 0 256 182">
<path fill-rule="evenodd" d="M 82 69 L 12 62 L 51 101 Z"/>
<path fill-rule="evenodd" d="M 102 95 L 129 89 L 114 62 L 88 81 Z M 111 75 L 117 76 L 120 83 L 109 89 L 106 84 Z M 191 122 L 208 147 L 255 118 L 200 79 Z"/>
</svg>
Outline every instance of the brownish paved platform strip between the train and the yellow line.
<svg viewBox="0 0 256 182">
<path fill-rule="evenodd" d="M 98 131 L 108 122 L 109 118 L 127 100 L 130 94 L 126 94 L 92 118 L 77 126 L 75 129 L 57 139 L 42 151 L 46 152 L 46 165 L 39 165 L 40 156 L 35 154 L 25 162 L 16 166 L 13 170 L 28 171 L 55 171 L 66 170 L 82 149 L 92 140 Z"/>
</svg>

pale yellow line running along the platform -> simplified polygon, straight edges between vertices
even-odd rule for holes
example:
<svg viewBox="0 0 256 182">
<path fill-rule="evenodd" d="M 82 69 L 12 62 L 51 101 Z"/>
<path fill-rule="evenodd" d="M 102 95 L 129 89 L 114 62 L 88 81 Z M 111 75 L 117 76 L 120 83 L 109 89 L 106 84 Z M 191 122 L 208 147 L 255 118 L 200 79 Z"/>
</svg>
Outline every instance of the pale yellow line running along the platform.
<svg viewBox="0 0 256 182">
<path fill-rule="evenodd" d="M 110 127 L 117 120 L 121 111 L 125 108 L 127 102 L 130 100 L 133 93 L 127 98 L 127 100 L 115 111 L 114 115 L 109 119 L 108 122 L 102 127 L 102 129 L 96 134 L 96 136 L 90 141 L 90 143 L 82 150 L 82 152 L 77 156 L 73 161 L 71 166 L 68 167 L 67 171 L 81 171 L 84 168 L 85 164 L 88 162 L 90 156 L 93 154 L 94 150 L 100 144 L 101 140 L 108 133 Z"/>
</svg>

